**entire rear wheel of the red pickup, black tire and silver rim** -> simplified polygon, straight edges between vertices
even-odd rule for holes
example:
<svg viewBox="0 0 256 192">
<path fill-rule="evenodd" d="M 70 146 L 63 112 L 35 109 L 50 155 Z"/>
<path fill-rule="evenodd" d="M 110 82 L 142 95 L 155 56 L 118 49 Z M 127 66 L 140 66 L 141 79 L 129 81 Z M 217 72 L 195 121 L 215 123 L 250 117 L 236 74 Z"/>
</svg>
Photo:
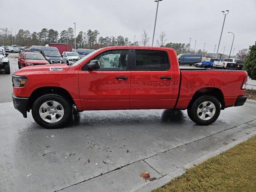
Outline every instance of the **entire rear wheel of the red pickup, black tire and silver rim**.
<svg viewBox="0 0 256 192">
<path fill-rule="evenodd" d="M 188 107 L 188 116 L 198 125 L 209 125 L 220 115 L 220 102 L 214 96 L 201 96 Z"/>
</svg>

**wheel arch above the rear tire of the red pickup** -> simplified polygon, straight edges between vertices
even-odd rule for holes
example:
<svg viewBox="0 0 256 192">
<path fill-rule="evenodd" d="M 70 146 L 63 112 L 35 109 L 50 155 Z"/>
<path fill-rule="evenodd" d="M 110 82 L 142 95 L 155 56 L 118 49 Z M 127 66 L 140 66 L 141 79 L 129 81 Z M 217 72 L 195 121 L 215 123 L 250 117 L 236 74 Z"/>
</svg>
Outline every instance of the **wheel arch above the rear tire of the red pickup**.
<svg viewBox="0 0 256 192">
<path fill-rule="evenodd" d="M 194 100 L 196 100 L 197 98 L 203 95 L 210 95 L 210 96 L 216 97 L 221 104 L 221 109 L 225 108 L 224 94 L 222 90 L 215 87 L 206 87 L 206 88 L 201 88 L 197 90 L 192 96 L 192 99 L 190 100 L 190 103 L 188 104 L 188 106 L 190 106 L 194 102 Z"/>
</svg>

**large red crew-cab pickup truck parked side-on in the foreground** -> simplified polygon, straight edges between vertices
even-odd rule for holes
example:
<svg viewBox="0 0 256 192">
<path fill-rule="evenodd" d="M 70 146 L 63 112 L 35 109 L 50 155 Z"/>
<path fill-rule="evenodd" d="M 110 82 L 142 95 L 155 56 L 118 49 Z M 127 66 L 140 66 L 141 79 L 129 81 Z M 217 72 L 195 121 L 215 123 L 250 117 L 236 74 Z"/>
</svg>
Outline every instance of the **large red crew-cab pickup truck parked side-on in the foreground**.
<svg viewBox="0 0 256 192">
<path fill-rule="evenodd" d="M 192 121 L 208 125 L 221 109 L 247 99 L 245 71 L 179 69 L 175 50 L 159 47 L 101 48 L 73 65 L 22 68 L 12 82 L 14 107 L 25 118 L 32 110 L 46 128 L 63 126 L 74 106 L 78 111 L 187 109 Z"/>
</svg>

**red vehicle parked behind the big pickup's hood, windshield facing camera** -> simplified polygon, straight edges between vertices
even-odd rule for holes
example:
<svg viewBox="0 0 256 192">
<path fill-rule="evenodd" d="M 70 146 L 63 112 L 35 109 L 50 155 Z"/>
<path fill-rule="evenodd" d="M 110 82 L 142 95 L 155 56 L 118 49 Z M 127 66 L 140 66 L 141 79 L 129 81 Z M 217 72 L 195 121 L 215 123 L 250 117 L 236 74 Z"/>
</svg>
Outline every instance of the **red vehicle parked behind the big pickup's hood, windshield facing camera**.
<svg viewBox="0 0 256 192">
<path fill-rule="evenodd" d="M 44 65 L 49 62 L 40 53 L 34 52 L 21 52 L 18 58 L 18 67 L 23 68 L 32 65 Z"/>
</svg>

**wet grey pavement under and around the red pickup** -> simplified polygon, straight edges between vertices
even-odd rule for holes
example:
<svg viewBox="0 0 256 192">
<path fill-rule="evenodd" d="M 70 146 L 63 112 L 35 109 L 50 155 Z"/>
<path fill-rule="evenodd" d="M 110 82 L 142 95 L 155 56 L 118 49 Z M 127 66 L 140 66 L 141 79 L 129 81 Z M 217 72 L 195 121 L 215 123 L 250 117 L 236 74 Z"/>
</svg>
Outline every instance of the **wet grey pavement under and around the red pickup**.
<svg viewBox="0 0 256 192">
<path fill-rule="evenodd" d="M 16 59 L 10 62 L 11 72 L 18 70 Z M 5 95 L 11 78 L 0 75 Z M 0 191 L 135 191 L 149 182 L 140 173 L 161 178 L 255 131 L 254 101 L 225 109 L 209 126 L 194 124 L 186 110 L 104 110 L 74 111 L 64 128 L 48 130 L 4 96 Z"/>
</svg>

